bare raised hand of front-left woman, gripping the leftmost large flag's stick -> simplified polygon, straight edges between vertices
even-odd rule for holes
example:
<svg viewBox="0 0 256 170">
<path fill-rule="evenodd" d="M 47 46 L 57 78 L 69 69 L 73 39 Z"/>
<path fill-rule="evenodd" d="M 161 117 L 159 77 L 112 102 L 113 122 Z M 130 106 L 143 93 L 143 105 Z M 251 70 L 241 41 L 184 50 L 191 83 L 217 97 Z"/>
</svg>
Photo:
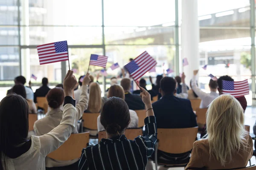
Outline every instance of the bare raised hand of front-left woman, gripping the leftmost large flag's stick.
<svg viewBox="0 0 256 170">
<path fill-rule="evenodd" d="M 73 71 L 67 71 L 66 77 L 64 78 L 63 87 L 65 96 L 72 97 L 72 91 L 76 87 L 76 77 L 73 75 Z"/>
</svg>

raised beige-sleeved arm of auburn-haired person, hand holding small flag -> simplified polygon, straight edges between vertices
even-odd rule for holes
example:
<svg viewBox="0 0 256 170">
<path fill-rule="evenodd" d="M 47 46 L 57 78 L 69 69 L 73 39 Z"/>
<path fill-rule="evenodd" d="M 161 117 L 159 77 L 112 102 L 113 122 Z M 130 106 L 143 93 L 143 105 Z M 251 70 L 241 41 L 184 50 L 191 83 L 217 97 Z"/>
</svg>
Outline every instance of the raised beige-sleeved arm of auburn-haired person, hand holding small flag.
<svg viewBox="0 0 256 170">
<path fill-rule="evenodd" d="M 88 106 L 88 84 L 90 82 L 90 77 L 89 77 L 89 73 L 87 73 L 83 79 L 82 82 L 82 86 L 81 86 L 81 96 L 80 96 L 80 100 L 76 105 L 76 122 L 83 116 L 84 111 L 87 109 Z M 77 123 L 76 123 L 77 125 Z M 75 128 L 76 130 L 76 128 Z"/>
</svg>

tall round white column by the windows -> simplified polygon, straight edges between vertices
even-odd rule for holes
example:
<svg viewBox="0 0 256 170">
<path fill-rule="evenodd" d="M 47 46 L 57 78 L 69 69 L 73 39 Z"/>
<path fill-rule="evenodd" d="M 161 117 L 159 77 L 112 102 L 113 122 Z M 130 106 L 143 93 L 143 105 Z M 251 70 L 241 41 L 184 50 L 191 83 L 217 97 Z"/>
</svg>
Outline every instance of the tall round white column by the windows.
<svg viewBox="0 0 256 170">
<path fill-rule="evenodd" d="M 199 69 L 198 0 L 182 0 L 181 21 L 181 56 L 182 59 L 187 58 L 189 62 L 189 65 L 183 67 L 186 84 L 189 84 L 193 70 Z"/>
</svg>

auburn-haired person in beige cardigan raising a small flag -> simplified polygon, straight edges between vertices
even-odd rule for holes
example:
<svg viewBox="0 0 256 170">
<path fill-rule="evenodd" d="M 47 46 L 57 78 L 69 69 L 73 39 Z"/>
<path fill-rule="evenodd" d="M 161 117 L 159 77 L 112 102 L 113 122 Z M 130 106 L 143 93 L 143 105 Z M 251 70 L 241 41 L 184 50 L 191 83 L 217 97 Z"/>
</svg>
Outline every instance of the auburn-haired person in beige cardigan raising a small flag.
<svg viewBox="0 0 256 170">
<path fill-rule="evenodd" d="M 81 86 L 81 100 L 76 105 L 76 122 L 82 117 L 84 110 L 88 105 L 88 93 L 87 85 L 90 82 L 89 74 L 84 77 Z M 49 105 L 49 111 L 43 119 L 37 120 L 34 125 L 35 134 L 38 136 L 49 133 L 52 129 L 57 127 L 61 123 L 63 111 L 61 110 L 61 105 L 64 102 L 64 91 L 62 88 L 51 89 L 47 96 L 47 102 Z M 77 125 L 77 124 L 76 124 Z M 77 127 L 75 125 L 75 127 Z M 73 130 L 73 133 L 78 133 L 77 129 Z M 70 161 L 60 161 L 46 157 L 45 166 L 46 167 L 63 167 L 75 163 L 78 159 Z"/>
</svg>

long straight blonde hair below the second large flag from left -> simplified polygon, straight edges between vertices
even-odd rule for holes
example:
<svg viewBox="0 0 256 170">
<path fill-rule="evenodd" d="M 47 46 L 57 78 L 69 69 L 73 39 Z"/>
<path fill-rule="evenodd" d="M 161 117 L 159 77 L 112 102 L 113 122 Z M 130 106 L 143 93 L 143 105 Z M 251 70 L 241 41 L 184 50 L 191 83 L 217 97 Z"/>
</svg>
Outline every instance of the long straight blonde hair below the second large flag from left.
<svg viewBox="0 0 256 170">
<path fill-rule="evenodd" d="M 90 112 L 99 113 L 102 109 L 102 98 L 99 84 L 92 82 L 89 86 L 89 90 L 89 102 L 87 109 Z"/>
</svg>

